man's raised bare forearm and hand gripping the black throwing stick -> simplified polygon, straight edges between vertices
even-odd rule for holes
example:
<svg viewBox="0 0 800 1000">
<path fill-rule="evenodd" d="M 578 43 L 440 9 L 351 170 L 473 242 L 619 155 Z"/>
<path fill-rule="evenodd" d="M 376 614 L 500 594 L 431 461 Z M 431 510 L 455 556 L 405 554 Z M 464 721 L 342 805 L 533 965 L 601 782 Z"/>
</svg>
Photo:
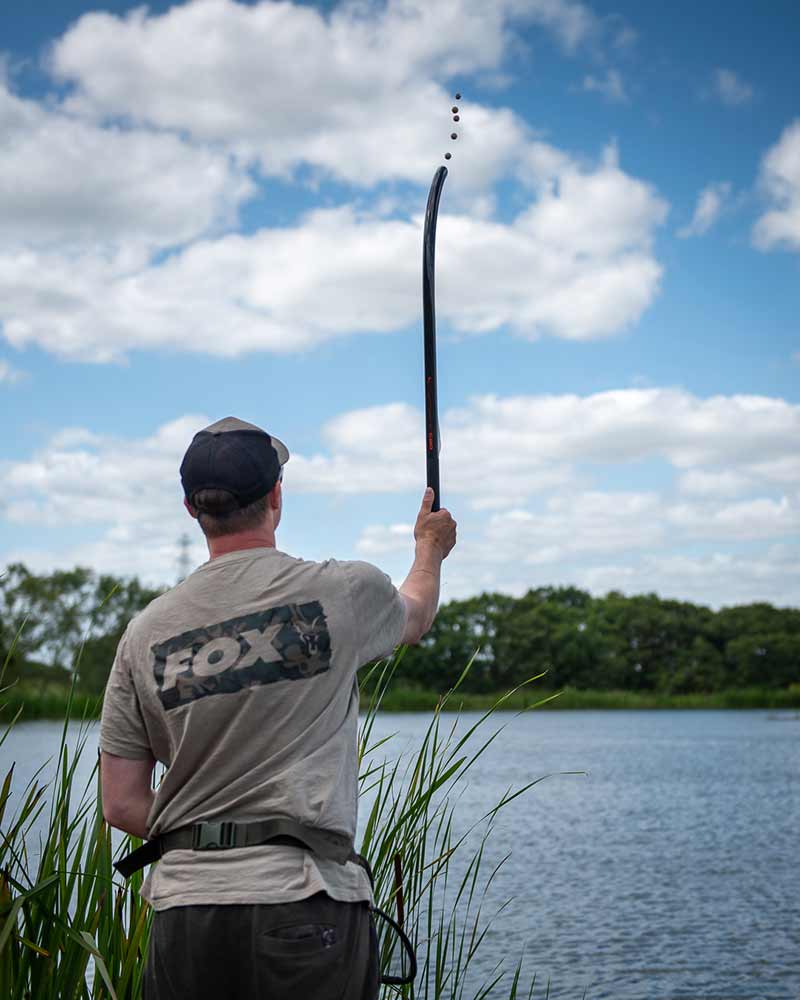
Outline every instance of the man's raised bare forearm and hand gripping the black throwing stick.
<svg viewBox="0 0 800 1000">
<path fill-rule="evenodd" d="M 425 490 L 414 526 L 414 565 L 399 590 L 406 605 L 403 643 L 416 643 L 433 625 L 439 607 L 442 562 L 456 544 L 456 522 L 447 510 L 433 513 L 433 490 Z"/>
</svg>

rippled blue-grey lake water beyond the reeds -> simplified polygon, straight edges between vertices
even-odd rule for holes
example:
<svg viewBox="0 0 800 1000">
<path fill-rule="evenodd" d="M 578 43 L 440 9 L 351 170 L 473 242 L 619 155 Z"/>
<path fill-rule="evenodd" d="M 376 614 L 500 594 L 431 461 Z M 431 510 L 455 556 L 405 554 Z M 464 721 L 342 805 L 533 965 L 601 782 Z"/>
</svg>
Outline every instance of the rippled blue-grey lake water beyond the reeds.
<svg viewBox="0 0 800 1000">
<path fill-rule="evenodd" d="M 477 716 L 467 714 L 461 725 Z M 471 773 L 465 826 L 509 786 L 557 771 L 498 816 L 485 912 L 513 897 L 479 952 L 488 976 L 524 952 L 552 1000 L 800 1000 L 800 722 L 767 711 L 529 712 Z M 384 714 L 392 755 L 427 714 Z M 0 747 L 14 787 L 61 724 Z M 84 757 L 88 775 L 96 744 Z M 508 990 L 498 989 L 498 997 Z"/>
</svg>

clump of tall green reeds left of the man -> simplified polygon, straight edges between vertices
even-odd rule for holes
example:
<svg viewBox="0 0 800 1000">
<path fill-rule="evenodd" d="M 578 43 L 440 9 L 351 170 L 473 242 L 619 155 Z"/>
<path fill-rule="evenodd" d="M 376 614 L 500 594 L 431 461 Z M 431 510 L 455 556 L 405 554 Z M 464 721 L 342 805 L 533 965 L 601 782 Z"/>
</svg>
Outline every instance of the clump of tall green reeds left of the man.
<svg viewBox="0 0 800 1000">
<path fill-rule="evenodd" d="M 111 830 L 102 818 L 97 765 L 83 789 L 76 782 L 88 726 L 85 720 L 80 724 L 71 753 L 68 716 L 53 783 L 41 781 L 40 768 L 11 813 L 12 766 L 0 792 L 0 996 L 133 1000 L 141 996 L 141 956 L 149 930 L 149 908 L 138 894 L 142 876 L 127 886 L 113 877 Z M 0 744 L 12 735 L 17 718 L 6 722 Z M 31 831 L 42 816 L 46 831 L 34 845 Z"/>
</svg>

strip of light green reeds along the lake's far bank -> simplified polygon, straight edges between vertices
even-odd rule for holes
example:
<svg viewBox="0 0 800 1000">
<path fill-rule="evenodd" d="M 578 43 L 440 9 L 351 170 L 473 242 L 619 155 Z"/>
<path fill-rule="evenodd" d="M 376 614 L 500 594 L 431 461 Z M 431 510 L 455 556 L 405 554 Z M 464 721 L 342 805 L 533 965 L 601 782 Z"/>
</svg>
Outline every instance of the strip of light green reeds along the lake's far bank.
<svg viewBox="0 0 800 1000">
<path fill-rule="evenodd" d="M 475 694 L 456 691 L 452 693 L 444 710 L 487 711 L 497 706 L 499 710 L 522 711 L 536 707 L 537 711 L 564 711 L 599 709 L 765 709 L 800 712 L 800 685 L 770 690 L 768 688 L 740 688 L 717 691 L 711 694 L 667 694 L 641 691 L 595 691 L 564 688 L 560 693 L 527 686 L 509 695 L 501 705 L 498 701 L 505 692 L 494 691 Z M 436 708 L 443 692 L 424 688 L 392 685 L 385 693 L 381 709 L 385 712 L 430 712 Z M 551 699 L 545 701 L 545 699 Z M 543 704 L 539 704 L 544 702 Z M 369 694 L 361 692 L 361 708 L 366 709 Z M 50 689 L 44 693 L 24 689 L 7 689 L 0 695 L 0 724 L 8 723 L 21 709 L 20 721 L 34 719 L 63 719 L 70 708 L 73 719 L 100 716 L 102 699 L 96 695 L 76 692 L 70 704 L 67 690 Z"/>
</svg>

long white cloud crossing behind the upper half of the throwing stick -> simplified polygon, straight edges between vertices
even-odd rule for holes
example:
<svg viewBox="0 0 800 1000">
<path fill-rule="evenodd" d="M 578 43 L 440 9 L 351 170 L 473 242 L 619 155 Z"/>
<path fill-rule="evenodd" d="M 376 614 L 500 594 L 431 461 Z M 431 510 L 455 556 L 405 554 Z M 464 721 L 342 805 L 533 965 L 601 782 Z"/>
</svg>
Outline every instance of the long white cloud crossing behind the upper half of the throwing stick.
<svg viewBox="0 0 800 1000">
<path fill-rule="evenodd" d="M 587 340 L 634 323 L 652 302 L 664 203 L 613 150 L 595 169 L 555 163 L 553 183 L 509 224 L 441 216 L 438 309 L 458 330 Z M 399 330 L 419 311 L 421 226 L 340 207 L 138 268 L 88 250 L 0 253 L 0 321 L 17 347 L 92 361 L 133 349 L 297 351 Z"/>
</svg>

